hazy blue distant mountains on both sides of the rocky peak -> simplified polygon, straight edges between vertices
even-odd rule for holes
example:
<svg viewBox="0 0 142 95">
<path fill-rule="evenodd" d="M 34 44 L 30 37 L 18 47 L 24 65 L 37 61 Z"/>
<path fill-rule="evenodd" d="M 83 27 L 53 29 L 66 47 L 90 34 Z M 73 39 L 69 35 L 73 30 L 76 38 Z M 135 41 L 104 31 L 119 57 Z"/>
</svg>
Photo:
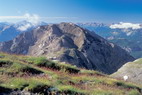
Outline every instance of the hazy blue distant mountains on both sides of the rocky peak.
<svg viewBox="0 0 142 95">
<path fill-rule="evenodd" d="M 14 24 L 1 22 L 0 42 L 10 41 L 19 34 L 26 31 L 31 31 L 32 29 L 41 25 L 47 25 L 47 23 L 41 22 L 37 25 L 33 25 L 28 21 L 21 21 Z M 96 34 L 122 47 L 135 58 L 142 57 L 142 25 L 140 25 L 140 27 L 136 27 L 136 25 L 132 28 L 127 27 L 127 29 L 120 28 L 120 26 L 118 28 L 114 28 L 115 24 L 103 23 L 77 23 L 77 25 L 87 28 L 90 31 L 95 31 Z M 112 27 L 111 25 L 114 26 Z"/>
</svg>

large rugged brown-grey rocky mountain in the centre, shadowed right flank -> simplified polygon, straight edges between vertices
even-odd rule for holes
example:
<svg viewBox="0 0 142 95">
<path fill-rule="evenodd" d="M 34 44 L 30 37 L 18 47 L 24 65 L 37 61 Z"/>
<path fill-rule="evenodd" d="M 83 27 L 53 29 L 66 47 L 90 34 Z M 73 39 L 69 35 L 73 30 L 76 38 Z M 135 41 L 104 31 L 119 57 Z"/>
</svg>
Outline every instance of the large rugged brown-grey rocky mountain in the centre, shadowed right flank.
<svg viewBox="0 0 142 95">
<path fill-rule="evenodd" d="M 38 27 L 19 35 L 14 40 L 0 43 L 0 51 L 32 56 L 43 55 L 108 74 L 117 71 L 126 62 L 134 60 L 120 47 L 73 23 Z"/>
</svg>

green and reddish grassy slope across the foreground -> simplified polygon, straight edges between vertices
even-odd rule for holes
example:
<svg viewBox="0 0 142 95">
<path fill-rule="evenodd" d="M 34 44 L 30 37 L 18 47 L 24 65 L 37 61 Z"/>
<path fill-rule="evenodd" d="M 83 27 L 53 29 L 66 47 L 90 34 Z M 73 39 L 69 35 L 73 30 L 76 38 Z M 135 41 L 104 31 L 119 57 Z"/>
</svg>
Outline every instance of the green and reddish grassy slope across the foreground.
<svg viewBox="0 0 142 95">
<path fill-rule="evenodd" d="M 52 95 L 141 95 L 141 89 L 97 71 L 52 62 L 44 57 L 0 53 L 0 93 L 24 90 Z"/>
</svg>

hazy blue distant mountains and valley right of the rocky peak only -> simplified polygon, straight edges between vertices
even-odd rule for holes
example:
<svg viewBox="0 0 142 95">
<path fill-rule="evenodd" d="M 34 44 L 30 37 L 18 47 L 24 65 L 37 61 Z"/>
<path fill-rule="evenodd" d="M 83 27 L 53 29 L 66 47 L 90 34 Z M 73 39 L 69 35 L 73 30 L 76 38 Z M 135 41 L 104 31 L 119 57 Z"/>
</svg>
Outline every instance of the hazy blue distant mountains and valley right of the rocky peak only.
<svg viewBox="0 0 142 95">
<path fill-rule="evenodd" d="M 135 58 L 142 57 L 142 25 L 132 23 L 110 25 L 103 23 L 78 23 L 78 25 L 94 31 L 110 42 L 119 45 Z"/>
</svg>

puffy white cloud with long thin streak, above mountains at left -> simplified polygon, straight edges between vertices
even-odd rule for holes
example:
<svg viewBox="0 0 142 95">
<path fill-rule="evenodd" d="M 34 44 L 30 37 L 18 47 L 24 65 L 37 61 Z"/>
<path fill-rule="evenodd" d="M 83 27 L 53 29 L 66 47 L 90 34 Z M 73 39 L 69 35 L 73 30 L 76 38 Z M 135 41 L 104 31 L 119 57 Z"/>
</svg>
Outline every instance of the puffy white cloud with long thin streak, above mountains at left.
<svg viewBox="0 0 142 95">
<path fill-rule="evenodd" d="M 19 11 L 20 12 L 20 11 Z M 0 21 L 20 21 L 20 20 L 26 20 L 29 23 L 20 25 L 17 27 L 18 30 L 20 31 L 26 31 L 27 29 L 37 26 L 39 22 L 42 20 L 67 20 L 67 19 L 77 19 L 77 17 L 40 17 L 37 14 L 30 14 L 30 13 L 25 13 L 22 16 L 0 16 Z"/>
</svg>

